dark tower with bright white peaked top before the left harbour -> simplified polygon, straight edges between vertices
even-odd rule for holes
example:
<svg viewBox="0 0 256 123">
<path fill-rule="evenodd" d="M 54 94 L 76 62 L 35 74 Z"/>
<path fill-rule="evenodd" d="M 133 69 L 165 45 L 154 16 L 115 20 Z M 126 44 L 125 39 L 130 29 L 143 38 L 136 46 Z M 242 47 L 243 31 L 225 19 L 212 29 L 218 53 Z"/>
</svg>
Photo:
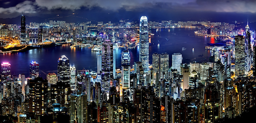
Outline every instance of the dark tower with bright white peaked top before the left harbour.
<svg viewBox="0 0 256 123">
<path fill-rule="evenodd" d="M 65 55 L 58 59 L 58 82 L 62 84 L 69 84 L 70 82 L 70 64 Z"/>
</svg>

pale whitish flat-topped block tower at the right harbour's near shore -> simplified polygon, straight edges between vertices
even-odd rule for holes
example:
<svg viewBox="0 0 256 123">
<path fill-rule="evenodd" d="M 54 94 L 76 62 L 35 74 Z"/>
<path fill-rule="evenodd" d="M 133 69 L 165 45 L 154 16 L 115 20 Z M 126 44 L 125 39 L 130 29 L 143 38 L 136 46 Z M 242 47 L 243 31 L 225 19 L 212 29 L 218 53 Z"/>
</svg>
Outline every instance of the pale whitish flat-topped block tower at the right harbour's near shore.
<svg viewBox="0 0 256 123">
<path fill-rule="evenodd" d="M 180 53 L 174 53 L 172 58 L 172 69 L 177 69 L 181 73 L 180 64 L 182 63 L 182 55 Z"/>
</svg>

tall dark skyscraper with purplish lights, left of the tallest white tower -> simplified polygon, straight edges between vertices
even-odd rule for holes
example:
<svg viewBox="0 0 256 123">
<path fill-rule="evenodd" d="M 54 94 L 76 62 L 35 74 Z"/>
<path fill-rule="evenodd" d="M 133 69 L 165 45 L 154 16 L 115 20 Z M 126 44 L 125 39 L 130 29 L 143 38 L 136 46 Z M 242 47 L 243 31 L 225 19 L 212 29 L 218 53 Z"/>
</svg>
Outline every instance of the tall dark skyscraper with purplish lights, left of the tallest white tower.
<svg viewBox="0 0 256 123">
<path fill-rule="evenodd" d="M 106 83 L 107 81 L 113 80 L 113 44 L 110 40 L 105 40 L 102 44 L 102 81 L 106 85 L 109 85 Z"/>
</svg>

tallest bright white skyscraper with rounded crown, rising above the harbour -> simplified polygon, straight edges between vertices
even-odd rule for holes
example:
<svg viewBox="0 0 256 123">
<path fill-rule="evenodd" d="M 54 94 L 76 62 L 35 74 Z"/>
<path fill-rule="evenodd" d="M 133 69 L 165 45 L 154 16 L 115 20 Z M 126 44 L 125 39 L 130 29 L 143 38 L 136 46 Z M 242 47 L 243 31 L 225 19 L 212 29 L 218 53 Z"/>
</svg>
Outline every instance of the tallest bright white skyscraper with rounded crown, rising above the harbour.
<svg viewBox="0 0 256 123">
<path fill-rule="evenodd" d="M 149 49 L 148 49 L 148 26 L 147 17 L 140 17 L 140 44 L 139 44 L 139 61 L 142 62 L 144 72 L 148 71 Z"/>
</svg>

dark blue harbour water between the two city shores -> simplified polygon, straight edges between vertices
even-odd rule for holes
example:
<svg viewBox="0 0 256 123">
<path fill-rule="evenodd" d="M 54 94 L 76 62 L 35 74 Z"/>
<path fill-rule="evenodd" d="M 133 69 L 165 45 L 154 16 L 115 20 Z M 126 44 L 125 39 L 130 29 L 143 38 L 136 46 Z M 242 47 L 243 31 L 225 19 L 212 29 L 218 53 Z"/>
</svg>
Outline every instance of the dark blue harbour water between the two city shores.
<svg viewBox="0 0 256 123">
<path fill-rule="evenodd" d="M 169 30 L 169 31 L 168 31 Z M 181 53 L 183 62 L 201 62 L 208 60 L 210 51 L 205 50 L 207 43 L 217 43 L 214 38 L 195 36 L 197 29 L 152 29 L 155 35 L 151 37 L 150 63 L 153 53 L 169 54 L 169 65 L 172 65 L 172 54 Z M 159 44 L 159 45 L 158 45 Z M 182 47 L 183 50 L 182 50 Z M 194 48 L 194 51 L 192 50 Z M 184 50 L 185 49 L 185 50 Z M 121 67 L 121 53 L 123 49 L 116 50 L 116 68 Z M 139 60 L 139 48 L 130 49 L 131 64 Z M 0 54 L 0 62 L 11 63 L 12 75 L 24 73 L 29 76 L 29 63 L 33 60 L 39 63 L 39 75 L 46 78 L 47 73 L 57 73 L 57 60 L 61 55 L 70 59 L 70 64 L 75 65 L 77 70 L 97 70 L 97 55 L 99 52 L 92 52 L 91 49 L 83 47 L 56 46 L 29 50 L 14 54 Z"/>
</svg>

